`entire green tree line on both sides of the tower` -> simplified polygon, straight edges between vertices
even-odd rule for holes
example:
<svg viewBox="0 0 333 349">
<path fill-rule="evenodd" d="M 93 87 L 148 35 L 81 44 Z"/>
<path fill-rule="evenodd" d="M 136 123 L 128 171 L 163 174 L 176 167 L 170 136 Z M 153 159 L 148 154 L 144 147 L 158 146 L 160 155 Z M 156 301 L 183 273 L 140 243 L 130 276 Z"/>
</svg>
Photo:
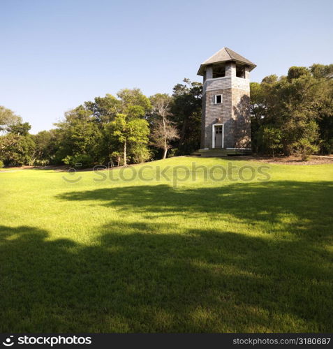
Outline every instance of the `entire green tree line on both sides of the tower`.
<svg viewBox="0 0 333 349">
<path fill-rule="evenodd" d="M 127 165 L 200 148 L 202 84 L 184 79 L 172 94 L 122 89 L 65 113 L 50 131 L 0 106 L 0 165 Z M 333 153 L 333 64 L 289 68 L 251 83 L 251 138 L 257 154 Z"/>
</svg>

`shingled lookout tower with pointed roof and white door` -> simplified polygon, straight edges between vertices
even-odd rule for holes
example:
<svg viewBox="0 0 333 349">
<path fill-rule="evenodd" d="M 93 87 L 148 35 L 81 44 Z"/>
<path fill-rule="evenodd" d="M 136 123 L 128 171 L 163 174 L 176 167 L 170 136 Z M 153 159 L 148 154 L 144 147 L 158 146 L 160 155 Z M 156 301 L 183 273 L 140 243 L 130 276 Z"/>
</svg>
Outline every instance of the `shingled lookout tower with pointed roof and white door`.
<svg viewBox="0 0 333 349">
<path fill-rule="evenodd" d="M 227 47 L 204 61 L 201 149 L 196 154 L 251 153 L 250 71 L 248 59 Z"/>
</svg>

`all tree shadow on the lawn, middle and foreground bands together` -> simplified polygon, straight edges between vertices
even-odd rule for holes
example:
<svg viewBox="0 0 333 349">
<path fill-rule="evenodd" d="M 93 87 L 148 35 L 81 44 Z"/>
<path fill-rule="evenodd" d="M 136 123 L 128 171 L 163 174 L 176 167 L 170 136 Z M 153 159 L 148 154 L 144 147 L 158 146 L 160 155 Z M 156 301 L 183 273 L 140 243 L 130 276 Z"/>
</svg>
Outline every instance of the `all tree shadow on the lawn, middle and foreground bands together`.
<svg viewBox="0 0 333 349">
<path fill-rule="evenodd" d="M 332 187 L 230 187 L 133 186 L 59 198 L 147 216 L 156 207 L 161 215 L 208 212 L 217 221 L 222 212 L 244 224 L 268 222 L 269 234 L 218 224 L 172 233 L 167 223 L 119 219 L 87 246 L 1 226 L 0 331 L 332 332 Z"/>
</svg>

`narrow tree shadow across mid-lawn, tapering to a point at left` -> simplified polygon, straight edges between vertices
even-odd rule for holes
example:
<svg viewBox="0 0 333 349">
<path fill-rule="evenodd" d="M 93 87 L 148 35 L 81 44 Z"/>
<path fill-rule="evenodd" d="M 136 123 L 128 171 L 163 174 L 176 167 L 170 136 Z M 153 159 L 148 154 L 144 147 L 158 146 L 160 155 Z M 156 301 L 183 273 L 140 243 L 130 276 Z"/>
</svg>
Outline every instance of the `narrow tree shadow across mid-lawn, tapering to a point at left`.
<svg viewBox="0 0 333 349">
<path fill-rule="evenodd" d="M 98 188 L 57 195 L 60 200 L 91 201 L 144 218 L 185 215 L 225 216 L 256 224 L 266 232 L 286 230 L 304 239 L 332 238 L 333 182 L 272 181 L 220 187 L 175 189 L 168 185 Z M 289 219 L 288 219 L 289 218 Z M 218 228 L 218 226 L 216 226 Z"/>
</svg>

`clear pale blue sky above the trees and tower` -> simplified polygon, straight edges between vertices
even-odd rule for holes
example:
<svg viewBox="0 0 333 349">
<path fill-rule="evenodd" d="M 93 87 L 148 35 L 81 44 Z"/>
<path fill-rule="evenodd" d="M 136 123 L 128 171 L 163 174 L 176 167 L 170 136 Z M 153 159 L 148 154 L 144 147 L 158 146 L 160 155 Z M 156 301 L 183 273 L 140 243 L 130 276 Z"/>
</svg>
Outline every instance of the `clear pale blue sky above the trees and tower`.
<svg viewBox="0 0 333 349">
<path fill-rule="evenodd" d="M 124 87 L 171 93 L 230 47 L 258 67 L 333 63 L 333 1 L 0 0 L 0 105 L 32 133 Z"/>
</svg>

